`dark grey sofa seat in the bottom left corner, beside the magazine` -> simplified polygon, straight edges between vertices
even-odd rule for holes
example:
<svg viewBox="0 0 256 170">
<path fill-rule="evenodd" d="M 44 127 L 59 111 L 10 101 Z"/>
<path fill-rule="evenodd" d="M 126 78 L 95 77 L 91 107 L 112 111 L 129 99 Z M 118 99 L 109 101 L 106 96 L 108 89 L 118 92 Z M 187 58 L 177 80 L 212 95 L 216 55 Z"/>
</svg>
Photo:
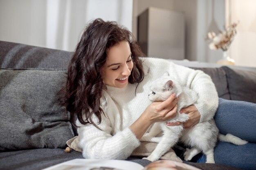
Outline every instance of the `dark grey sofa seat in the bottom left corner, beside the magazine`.
<svg viewBox="0 0 256 170">
<path fill-rule="evenodd" d="M 65 161 L 80 158 L 82 153 L 72 151 L 64 152 L 65 149 L 39 148 L 29 150 L 16 150 L 0 152 L 1 170 L 42 170 L 49 166 Z"/>
</svg>

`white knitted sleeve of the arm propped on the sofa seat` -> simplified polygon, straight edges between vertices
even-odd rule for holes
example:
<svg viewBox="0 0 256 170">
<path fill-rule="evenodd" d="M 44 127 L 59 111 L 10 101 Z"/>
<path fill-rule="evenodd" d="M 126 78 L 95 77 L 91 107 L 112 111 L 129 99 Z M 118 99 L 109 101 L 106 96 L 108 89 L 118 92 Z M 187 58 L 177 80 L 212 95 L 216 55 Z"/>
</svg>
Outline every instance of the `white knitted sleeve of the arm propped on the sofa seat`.
<svg viewBox="0 0 256 170">
<path fill-rule="evenodd" d="M 112 111 L 112 113 L 107 113 Z M 83 150 L 83 157 L 87 159 L 126 159 L 140 144 L 135 134 L 129 127 L 124 130 L 116 130 L 115 135 L 112 135 L 114 130 L 115 115 L 118 114 L 108 101 L 108 107 L 105 107 L 99 128 L 91 124 L 78 128 L 79 147 Z M 96 120 L 96 119 L 94 119 Z M 81 124 L 79 124 L 81 125 Z"/>
</svg>

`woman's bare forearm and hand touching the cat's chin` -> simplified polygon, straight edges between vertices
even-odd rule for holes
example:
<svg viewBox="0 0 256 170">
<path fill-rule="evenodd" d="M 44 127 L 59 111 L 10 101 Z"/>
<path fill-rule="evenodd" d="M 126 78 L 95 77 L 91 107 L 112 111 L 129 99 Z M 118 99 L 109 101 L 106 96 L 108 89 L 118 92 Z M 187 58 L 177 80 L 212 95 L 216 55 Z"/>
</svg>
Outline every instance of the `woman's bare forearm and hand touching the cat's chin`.
<svg viewBox="0 0 256 170">
<path fill-rule="evenodd" d="M 150 104 L 141 116 L 130 126 L 130 130 L 140 139 L 148 130 L 151 124 L 165 121 L 175 116 L 177 112 L 177 101 L 175 94 L 171 95 L 164 102 Z"/>
</svg>

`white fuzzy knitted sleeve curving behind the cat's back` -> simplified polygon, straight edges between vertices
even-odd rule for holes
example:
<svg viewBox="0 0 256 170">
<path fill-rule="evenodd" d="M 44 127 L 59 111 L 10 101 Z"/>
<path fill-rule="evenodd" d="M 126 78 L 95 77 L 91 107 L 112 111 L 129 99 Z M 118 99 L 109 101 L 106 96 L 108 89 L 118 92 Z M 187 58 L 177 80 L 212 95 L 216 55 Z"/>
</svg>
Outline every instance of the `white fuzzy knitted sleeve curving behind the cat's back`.
<svg viewBox="0 0 256 170">
<path fill-rule="evenodd" d="M 195 107 L 200 113 L 200 122 L 213 118 L 218 108 L 218 93 L 211 77 L 200 70 L 193 70 L 171 63 L 171 71 L 180 82 L 198 93 Z"/>
</svg>

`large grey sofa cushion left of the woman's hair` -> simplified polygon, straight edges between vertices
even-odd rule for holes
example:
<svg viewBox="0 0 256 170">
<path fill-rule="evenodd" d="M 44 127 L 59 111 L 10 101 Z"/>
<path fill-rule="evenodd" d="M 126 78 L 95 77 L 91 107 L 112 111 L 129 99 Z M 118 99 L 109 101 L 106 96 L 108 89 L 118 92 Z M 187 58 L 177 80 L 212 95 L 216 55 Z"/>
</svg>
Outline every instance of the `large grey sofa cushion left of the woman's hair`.
<svg viewBox="0 0 256 170">
<path fill-rule="evenodd" d="M 74 135 L 57 96 L 65 78 L 64 71 L 0 70 L 0 151 L 66 146 Z"/>
</svg>

